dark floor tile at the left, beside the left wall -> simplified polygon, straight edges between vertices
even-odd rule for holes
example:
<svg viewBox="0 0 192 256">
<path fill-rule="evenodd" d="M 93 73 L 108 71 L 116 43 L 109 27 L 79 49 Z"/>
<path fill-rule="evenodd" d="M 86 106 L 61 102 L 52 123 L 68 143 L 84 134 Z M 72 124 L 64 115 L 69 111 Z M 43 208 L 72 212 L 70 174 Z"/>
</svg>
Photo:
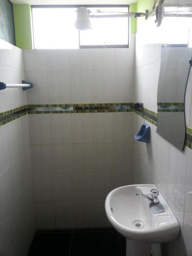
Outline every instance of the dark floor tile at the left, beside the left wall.
<svg viewBox="0 0 192 256">
<path fill-rule="evenodd" d="M 28 256 L 68 256 L 72 232 L 37 232 Z"/>
</svg>

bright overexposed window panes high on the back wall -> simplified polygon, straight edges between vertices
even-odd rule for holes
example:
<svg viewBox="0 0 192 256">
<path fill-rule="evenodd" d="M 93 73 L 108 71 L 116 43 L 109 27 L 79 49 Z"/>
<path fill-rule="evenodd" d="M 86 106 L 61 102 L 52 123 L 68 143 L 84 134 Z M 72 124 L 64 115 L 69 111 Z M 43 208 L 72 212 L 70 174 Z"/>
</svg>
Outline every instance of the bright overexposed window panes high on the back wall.
<svg viewBox="0 0 192 256">
<path fill-rule="evenodd" d="M 91 17 L 92 29 L 75 28 L 78 6 L 33 6 L 35 49 L 127 48 L 129 47 L 129 6 L 85 6 L 98 17 Z M 103 13 L 96 13 L 96 10 Z M 110 12 L 112 11 L 112 12 Z M 99 17 L 101 16 L 102 17 Z M 118 16 L 118 17 L 117 17 Z"/>
</svg>

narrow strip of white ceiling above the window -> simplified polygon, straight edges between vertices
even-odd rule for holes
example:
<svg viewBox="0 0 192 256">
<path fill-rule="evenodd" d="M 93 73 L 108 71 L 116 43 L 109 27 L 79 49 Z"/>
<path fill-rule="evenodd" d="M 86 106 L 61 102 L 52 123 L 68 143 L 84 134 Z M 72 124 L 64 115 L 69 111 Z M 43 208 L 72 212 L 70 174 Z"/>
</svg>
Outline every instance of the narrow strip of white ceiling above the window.
<svg viewBox="0 0 192 256">
<path fill-rule="evenodd" d="M 30 5 L 127 5 L 137 0 L 11 0 L 13 4 Z"/>
</svg>

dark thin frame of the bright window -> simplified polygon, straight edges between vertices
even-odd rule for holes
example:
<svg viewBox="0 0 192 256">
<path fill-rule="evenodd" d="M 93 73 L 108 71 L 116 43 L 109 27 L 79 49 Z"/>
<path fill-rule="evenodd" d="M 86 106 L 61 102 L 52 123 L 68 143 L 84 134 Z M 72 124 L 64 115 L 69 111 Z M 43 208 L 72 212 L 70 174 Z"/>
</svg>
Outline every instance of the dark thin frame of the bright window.
<svg viewBox="0 0 192 256">
<path fill-rule="evenodd" d="M 31 5 L 31 13 L 32 13 L 32 9 L 35 8 L 79 8 L 79 7 L 86 7 L 86 8 L 110 8 L 110 7 L 124 7 L 128 9 L 128 12 L 130 11 L 130 5 Z M 32 31 L 34 31 L 33 28 L 33 15 L 32 16 Z M 127 45 L 80 45 L 80 31 L 78 31 L 78 36 L 79 36 L 79 40 L 78 40 L 78 44 L 79 44 L 79 49 L 97 49 L 97 48 L 130 48 L 130 17 L 127 17 L 127 22 L 128 22 L 128 38 L 127 38 Z M 33 45 L 34 45 L 34 49 L 35 48 L 35 44 L 34 44 L 34 33 L 32 35 L 33 37 Z M 63 48 L 64 49 L 64 48 Z"/>
</svg>

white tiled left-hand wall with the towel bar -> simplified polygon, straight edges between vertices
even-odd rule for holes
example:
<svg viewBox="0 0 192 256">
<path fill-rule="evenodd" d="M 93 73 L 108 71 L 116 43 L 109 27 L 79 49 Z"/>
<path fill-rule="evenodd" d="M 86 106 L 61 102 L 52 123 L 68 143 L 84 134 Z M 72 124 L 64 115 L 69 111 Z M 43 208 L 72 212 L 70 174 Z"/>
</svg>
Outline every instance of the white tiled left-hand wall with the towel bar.
<svg viewBox="0 0 192 256">
<path fill-rule="evenodd" d="M 1 42 L 3 40 L 0 39 Z M 0 49 L 0 81 L 24 79 L 22 50 L 4 41 Z M 26 105 L 26 92 L 0 92 L 0 113 Z M 35 232 L 28 117 L 0 127 L 0 254 L 25 256 Z M 30 222 L 30 223 L 29 223 Z"/>
</svg>

